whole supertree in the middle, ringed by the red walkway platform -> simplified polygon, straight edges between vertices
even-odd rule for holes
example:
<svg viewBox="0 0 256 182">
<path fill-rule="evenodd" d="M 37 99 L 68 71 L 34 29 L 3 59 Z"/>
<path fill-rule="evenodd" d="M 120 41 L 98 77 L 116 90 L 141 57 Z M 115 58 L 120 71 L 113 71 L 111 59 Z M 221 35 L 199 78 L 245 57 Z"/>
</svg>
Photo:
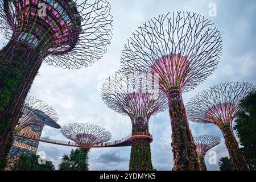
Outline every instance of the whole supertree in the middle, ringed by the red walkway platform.
<svg viewBox="0 0 256 182">
<path fill-rule="evenodd" d="M 107 106 L 131 119 L 134 138 L 129 169 L 152 170 L 148 122 L 151 115 L 167 109 L 167 99 L 158 84 L 147 74 L 118 71 L 106 78 L 101 95 Z"/>
</svg>

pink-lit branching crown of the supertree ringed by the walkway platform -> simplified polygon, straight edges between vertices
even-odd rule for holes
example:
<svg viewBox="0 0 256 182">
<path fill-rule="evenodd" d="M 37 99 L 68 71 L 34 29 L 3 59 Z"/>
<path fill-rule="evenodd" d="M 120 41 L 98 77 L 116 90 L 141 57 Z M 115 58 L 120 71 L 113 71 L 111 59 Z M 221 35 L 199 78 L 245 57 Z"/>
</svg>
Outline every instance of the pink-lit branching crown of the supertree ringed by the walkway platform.
<svg viewBox="0 0 256 182">
<path fill-rule="evenodd" d="M 151 115 L 167 109 L 167 98 L 149 74 L 115 72 L 105 80 L 101 93 L 106 105 L 128 115 L 133 124 L 142 118 L 147 125 Z"/>
</svg>

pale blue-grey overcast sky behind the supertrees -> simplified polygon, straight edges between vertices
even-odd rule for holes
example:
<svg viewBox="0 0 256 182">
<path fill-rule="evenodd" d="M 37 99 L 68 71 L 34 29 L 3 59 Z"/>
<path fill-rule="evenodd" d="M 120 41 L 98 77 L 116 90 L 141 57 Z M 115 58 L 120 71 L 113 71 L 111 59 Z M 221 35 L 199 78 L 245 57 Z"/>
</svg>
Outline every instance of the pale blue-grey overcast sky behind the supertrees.
<svg viewBox="0 0 256 182">
<path fill-rule="evenodd" d="M 216 3 L 217 16 L 209 16 L 209 4 Z M 108 129 L 113 140 L 131 133 L 128 117 L 109 109 L 101 100 L 101 84 L 110 73 L 117 71 L 123 45 L 137 27 L 146 20 L 169 11 L 191 11 L 204 15 L 218 27 L 223 38 L 223 49 L 216 71 L 196 89 L 183 94 L 184 103 L 198 92 L 225 81 L 255 83 L 255 11 L 256 1 L 171 1 L 171 0 L 110 0 L 113 15 L 113 39 L 104 57 L 88 68 L 68 70 L 42 64 L 30 94 L 47 102 L 59 114 L 59 124 L 89 122 Z M 205 162 L 208 169 L 218 170 L 218 160 L 228 156 L 224 138 L 217 126 L 190 123 L 193 135 L 213 134 L 222 139 L 212 148 L 217 163 L 209 164 L 209 152 Z M 171 124 L 168 111 L 151 117 L 150 131 L 152 164 L 158 170 L 171 170 Z M 44 127 L 42 137 L 67 140 L 60 131 Z M 57 167 L 61 156 L 69 154 L 73 147 L 40 143 L 38 152 L 46 152 L 46 159 Z M 90 150 L 90 170 L 128 170 L 130 147 L 93 148 Z"/>
</svg>

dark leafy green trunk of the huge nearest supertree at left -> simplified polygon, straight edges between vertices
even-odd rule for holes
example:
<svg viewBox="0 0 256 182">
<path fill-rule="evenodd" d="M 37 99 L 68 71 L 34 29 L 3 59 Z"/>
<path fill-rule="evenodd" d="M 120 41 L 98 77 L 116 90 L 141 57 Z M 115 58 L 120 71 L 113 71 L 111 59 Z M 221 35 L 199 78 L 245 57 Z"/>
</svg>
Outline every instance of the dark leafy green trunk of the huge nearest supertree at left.
<svg viewBox="0 0 256 182">
<path fill-rule="evenodd" d="M 7 143 L 22 110 L 38 69 L 40 51 L 21 42 L 10 41 L 0 51 L 0 163 L 9 152 Z M 3 164 L 4 165 L 4 164 Z"/>
</svg>

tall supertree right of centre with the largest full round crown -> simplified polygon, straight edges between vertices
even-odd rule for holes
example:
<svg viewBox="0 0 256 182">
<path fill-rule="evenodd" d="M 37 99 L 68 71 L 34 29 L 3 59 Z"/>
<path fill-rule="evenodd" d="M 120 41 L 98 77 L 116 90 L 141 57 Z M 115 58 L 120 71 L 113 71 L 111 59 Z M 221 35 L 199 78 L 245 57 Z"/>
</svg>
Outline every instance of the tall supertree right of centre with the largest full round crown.
<svg viewBox="0 0 256 182">
<path fill-rule="evenodd" d="M 129 38 L 122 52 L 124 72 L 146 71 L 168 98 L 174 170 L 199 170 L 196 146 L 182 100 L 216 68 L 222 39 L 210 20 L 196 13 L 159 15 Z"/>
</svg>

